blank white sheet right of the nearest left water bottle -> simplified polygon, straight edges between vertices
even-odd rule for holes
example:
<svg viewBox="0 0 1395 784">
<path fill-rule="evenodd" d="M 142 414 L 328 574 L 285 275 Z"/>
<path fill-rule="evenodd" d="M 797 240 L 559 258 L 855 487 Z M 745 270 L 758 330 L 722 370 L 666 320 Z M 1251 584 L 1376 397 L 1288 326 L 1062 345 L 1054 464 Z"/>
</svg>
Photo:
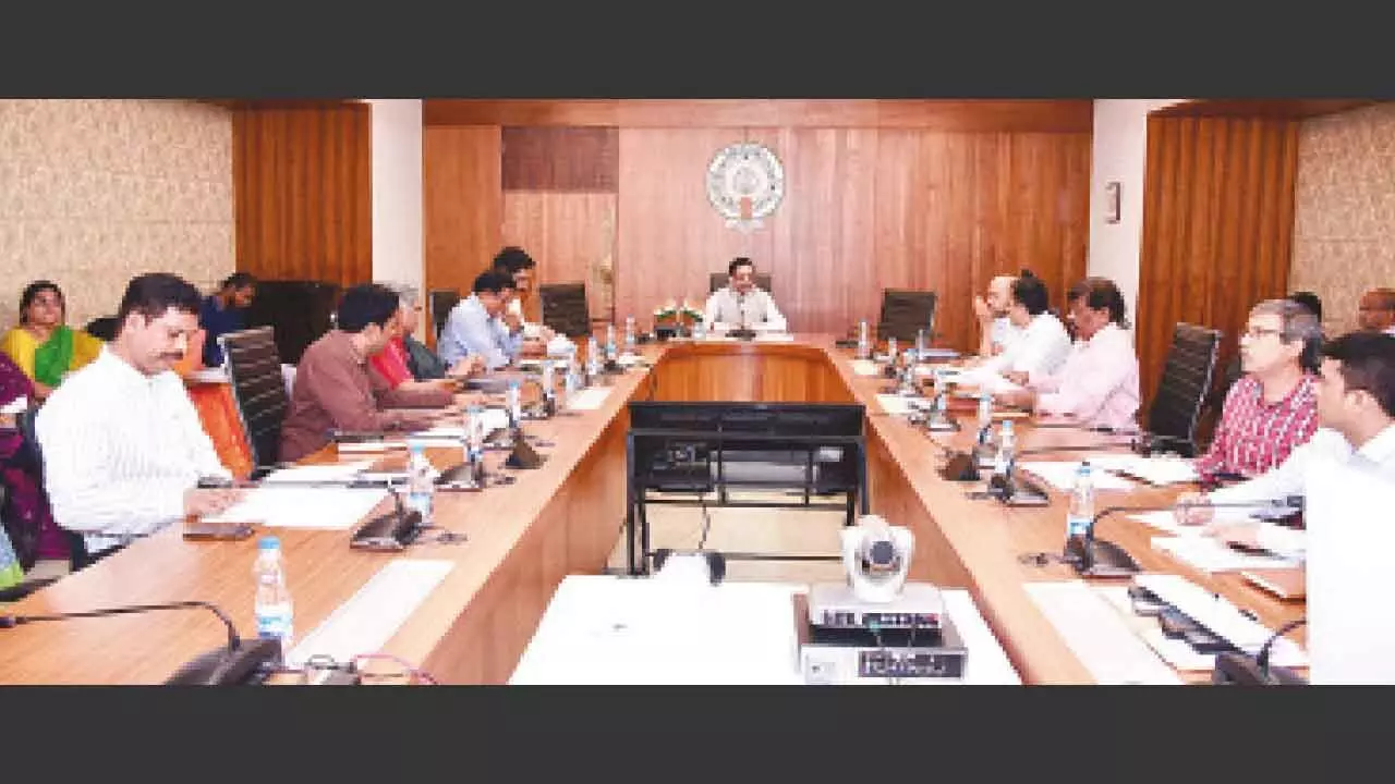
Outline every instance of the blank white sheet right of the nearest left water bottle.
<svg viewBox="0 0 1395 784">
<path fill-rule="evenodd" d="M 315 654 L 347 663 L 354 656 L 381 651 L 453 568 L 451 561 L 389 562 L 306 635 L 286 654 L 287 664 L 301 667 Z"/>
</svg>

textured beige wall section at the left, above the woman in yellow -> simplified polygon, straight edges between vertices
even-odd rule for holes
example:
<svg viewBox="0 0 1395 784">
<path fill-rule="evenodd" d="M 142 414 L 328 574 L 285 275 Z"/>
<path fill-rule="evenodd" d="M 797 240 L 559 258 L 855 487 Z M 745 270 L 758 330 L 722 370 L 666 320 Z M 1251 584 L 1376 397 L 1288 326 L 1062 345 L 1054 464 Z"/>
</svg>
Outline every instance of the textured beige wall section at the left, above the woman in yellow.
<svg viewBox="0 0 1395 784">
<path fill-rule="evenodd" d="M 232 137 L 227 109 L 188 100 L 0 100 L 0 326 L 38 278 L 81 326 L 133 275 L 232 273 Z"/>
</svg>

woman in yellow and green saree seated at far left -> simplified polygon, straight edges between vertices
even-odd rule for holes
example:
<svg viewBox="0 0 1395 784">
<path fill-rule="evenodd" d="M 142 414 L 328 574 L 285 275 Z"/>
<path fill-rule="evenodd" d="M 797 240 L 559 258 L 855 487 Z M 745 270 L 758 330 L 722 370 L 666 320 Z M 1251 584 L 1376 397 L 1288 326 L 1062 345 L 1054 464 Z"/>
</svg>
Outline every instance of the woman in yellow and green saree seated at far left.
<svg viewBox="0 0 1395 784">
<path fill-rule="evenodd" d="M 0 338 L 4 352 L 33 382 L 33 398 L 45 400 L 68 372 L 102 353 L 102 342 L 66 319 L 63 292 L 52 280 L 35 280 L 20 296 L 20 325 Z"/>
</svg>

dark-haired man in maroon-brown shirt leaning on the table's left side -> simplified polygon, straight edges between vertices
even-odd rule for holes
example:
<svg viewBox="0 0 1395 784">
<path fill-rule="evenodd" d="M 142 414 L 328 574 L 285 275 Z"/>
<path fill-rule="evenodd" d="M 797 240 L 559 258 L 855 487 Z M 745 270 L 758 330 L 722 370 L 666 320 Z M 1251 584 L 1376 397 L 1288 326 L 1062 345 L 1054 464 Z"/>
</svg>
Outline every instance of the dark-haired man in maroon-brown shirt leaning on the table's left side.
<svg viewBox="0 0 1395 784">
<path fill-rule="evenodd" d="M 339 301 L 335 329 L 306 349 L 296 368 L 280 460 L 294 462 L 331 441 L 331 432 L 413 431 L 439 421 L 455 395 L 444 388 L 392 388 L 368 365 L 398 333 L 398 294 L 378 283 L 353 286 Z"/>
</svg>

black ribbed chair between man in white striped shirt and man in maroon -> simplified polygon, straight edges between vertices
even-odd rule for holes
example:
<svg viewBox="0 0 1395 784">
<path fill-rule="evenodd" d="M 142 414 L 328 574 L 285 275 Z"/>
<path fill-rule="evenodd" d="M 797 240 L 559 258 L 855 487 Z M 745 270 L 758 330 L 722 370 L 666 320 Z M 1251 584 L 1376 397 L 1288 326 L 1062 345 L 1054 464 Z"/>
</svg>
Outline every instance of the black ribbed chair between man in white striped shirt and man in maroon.
<svg viewBox="0 0 1395 784">
<path fill-rule="evenodd" d="M 227 377 L 252 453 L 252 474 L 275 466 L 280 455 L 280 425 L 290 402 L 280 354 L 271 326 L 219 335 L 227 363 Z"/>
</svg>

